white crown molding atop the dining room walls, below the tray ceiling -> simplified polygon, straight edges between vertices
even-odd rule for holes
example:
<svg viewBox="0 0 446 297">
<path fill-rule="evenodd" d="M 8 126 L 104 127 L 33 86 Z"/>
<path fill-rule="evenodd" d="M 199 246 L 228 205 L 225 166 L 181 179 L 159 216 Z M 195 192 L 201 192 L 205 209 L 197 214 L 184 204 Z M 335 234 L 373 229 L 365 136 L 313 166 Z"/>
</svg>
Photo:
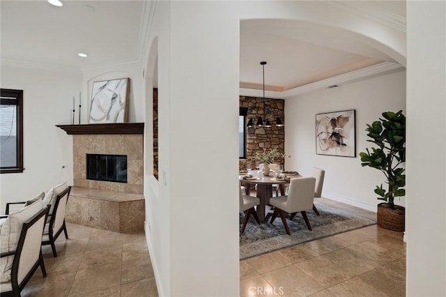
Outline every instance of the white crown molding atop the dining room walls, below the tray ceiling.
<svg viewBox="0 0 446 297">
<path fill-rule="evenodd" d="M 388 73 L 394 73 L 398 71 L 405 70 L 403 66 L 397 63 L 383 62 L 376 64 L 374 66 L 369 66 L 359 70 L 354 70 L 349 73 L 344 73 L 328 79 L 322 79 L 318 82 L 313 82 L 311 84 L 305 84 L 304 86 L 298 86 L 294 89 L 289 89 L 282 92 L 276 91 L 265 91 L 266 98 L 275 99 L 285 99 L 291 98 L 302 93 L 308 93 L 311 91 L 316 91 L 318 89 L 326 89 L 334 84 L 347 84 L 349 82 L 356 82 L 361 79 L 367 79 L 371 77 L 376 77 L 378 75 L 385 75 Z M 253 89 L 242 89 L 240 88 L 240 96 L 250 96 L 250 97 L 263 97 L 263 91 L 253 90 Z"/>
</svg>

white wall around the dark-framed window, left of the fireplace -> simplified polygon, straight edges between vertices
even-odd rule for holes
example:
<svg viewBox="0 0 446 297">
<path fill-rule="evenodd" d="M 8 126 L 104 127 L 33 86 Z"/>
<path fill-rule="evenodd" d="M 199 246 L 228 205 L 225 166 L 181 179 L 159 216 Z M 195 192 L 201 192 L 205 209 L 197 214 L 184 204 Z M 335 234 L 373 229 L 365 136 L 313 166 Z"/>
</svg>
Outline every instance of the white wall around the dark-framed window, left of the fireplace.
<svg viewBox="0 0 446 297">
<path fill-rule="evenodd" d="M 31 199 L 63 181 L 72 184 L 72 137 L 55 125 L 71 123 L 82 75 L 1 66 L 1 88 L 24 91 L 25 170 L 0 175 L 4 212 L 7 201 Z"/>
</svg>

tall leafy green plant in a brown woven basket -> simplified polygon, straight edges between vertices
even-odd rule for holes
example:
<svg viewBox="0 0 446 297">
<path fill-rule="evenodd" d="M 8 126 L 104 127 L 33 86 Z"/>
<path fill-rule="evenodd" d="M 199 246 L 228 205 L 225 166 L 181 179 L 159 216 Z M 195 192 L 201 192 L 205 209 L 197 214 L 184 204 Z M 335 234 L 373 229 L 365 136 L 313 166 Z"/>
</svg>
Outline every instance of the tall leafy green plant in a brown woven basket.
<svg viewBox="0 0 446 297">
<path fill-rule="evenodd" d="M 367 124 L 366 131 L 371 139 L 367 142 L 376 144 L 371 151 L 361 152 L 361 165 L 378 169 L 385 175 L 388 187 L 376 185 L 378 199 L 385 202 L 378 204 L 377 224 L 385 229 L 404 231 L 405 208 L 394 204 L 395 197 L 406 195 L 406 116 L 399 112 L 383 112 L 383 118 Z"/>
</svg>

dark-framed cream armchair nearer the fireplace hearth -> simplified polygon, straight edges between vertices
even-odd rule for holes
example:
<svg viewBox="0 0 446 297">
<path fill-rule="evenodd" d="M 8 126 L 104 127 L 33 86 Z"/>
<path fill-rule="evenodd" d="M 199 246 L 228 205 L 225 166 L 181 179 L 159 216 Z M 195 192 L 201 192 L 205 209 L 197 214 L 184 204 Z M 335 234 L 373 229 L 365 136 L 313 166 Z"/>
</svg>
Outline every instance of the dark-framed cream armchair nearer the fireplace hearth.
<svg viewBox="0 0 446 297">
<path fill-rule="evenodd" d="M 66 184 L 65 187 L 66 188 L 61 192 L 59 192 L 59 190 L 56 191 L 58 194 L 56 195 L 54 204 L 51 204 L 52 208 L 54 206 L 54 209 L 49 216 L 49 222 L 45 224 L 42 237 L 42 245 L 51 245 L 54 257 L 57 257 L 56 245 L 54 242 L 62 231 L 65 234 L 65 238 L 68 239 L 68 232 L 65 224 L 65 213 L 71 187 L 66 186 Z"/>
</svg>

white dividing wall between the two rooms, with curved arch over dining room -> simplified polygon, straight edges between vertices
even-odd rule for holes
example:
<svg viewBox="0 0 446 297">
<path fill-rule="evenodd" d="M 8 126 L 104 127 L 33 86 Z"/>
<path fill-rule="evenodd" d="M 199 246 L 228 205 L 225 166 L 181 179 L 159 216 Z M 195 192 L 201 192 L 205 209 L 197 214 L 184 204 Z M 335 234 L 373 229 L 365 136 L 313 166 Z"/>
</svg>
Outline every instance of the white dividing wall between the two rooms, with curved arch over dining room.
<svg viewBox="0 0 446 297">
<path fill-rule="evenodd" d="M 327 3 L 158 1 L 147 48 L 158 38 L 160 181 L 146 168 L 144 195 L 160 296 L 239 294 L 238 204 L 229 199 L 238 195 L 239 26 L 240 20 L 256 18 L 339 26 L 403 60 L 404 33 Z M 146 55 L 151 75 L 151 53 Z M 150 76 L 144 85 L 148 123 Z M 150 163 L 151 137 L 146 129 L 145 164 Z M 218 178 L 203 174 L 213 170 Z"/>
</svg>

